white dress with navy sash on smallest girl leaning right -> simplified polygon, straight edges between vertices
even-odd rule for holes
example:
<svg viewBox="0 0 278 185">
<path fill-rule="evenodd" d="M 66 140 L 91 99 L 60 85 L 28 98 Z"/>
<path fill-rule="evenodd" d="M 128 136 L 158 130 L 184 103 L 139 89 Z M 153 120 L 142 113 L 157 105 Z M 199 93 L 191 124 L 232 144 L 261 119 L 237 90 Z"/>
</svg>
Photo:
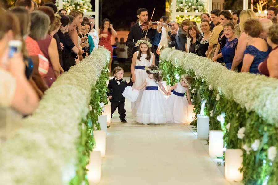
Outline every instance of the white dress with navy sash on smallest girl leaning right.
<svg viewBox="0 0 278 185">
<path fill-rule="evenodd" d="M 184 96 L 186 90 L 187 87 L 183 87 L 178 83 L 177 88 L 174 89 L 175 92 L 171 92 L 167 99 L 173 115 L 173 120 L 168 123 L 187 123 L 188 100 Z"/>
</svg>

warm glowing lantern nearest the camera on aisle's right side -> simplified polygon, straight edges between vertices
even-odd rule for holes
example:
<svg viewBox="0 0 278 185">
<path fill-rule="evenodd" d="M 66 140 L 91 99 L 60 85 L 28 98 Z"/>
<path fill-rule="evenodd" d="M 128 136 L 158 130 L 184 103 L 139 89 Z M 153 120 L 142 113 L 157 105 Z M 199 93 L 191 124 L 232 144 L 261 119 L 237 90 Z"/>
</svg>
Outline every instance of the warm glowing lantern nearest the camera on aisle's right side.
<svg viewBox="0 0 278 185">
<path fill-rule="evenodd" d="M 242 181 L 243 173 L 239 171 L 242 167 L 243 152 L 241 149 L 227 149 L 225 153 L 225 178 L 227 181 Z"/>
</svg>

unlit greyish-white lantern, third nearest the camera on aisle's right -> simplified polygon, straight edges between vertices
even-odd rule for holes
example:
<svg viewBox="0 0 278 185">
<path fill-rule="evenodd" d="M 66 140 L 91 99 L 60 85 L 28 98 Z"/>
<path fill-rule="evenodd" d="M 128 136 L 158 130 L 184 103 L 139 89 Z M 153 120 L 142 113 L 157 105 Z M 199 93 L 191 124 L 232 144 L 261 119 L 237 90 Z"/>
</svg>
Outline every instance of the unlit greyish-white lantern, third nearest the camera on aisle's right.
<svg viewBox="0 0 278 185">
<path fill-rule="evenodd" d="M 197 138 L 198 139 L 208 139 L 209 134 L 209 117 L 199 116 L 197 118 Z"/>
</svg>

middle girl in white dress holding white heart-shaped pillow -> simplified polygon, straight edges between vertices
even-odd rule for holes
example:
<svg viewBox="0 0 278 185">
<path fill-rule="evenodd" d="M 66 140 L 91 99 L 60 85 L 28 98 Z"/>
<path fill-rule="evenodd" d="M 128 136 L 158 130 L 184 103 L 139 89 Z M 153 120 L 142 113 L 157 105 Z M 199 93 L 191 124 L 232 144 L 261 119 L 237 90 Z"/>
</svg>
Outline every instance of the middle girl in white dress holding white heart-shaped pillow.
<svg viewBox="0 0 278 185">
<path fill-rule="evenodd" d="M 159 70 L 154 65 L 145 69 L 147 70 L 148 78 L 140 86 L 135 88 L 136 90 L 146 88 L 136 113 L 136 122 L 143 123 L 143 125 L 166 123 L 172 120 L 173 116 L 166 102 L 166 98 L 158 90 L 159 86 L 167 94 L 167 91 L 162 86 Z"/>
</svg>

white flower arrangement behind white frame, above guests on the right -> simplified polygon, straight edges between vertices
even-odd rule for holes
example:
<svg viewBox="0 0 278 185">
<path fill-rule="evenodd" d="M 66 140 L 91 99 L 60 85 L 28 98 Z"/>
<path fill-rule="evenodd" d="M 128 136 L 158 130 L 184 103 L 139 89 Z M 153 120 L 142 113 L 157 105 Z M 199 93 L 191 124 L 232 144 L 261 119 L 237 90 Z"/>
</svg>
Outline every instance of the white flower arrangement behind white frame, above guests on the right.
<svg viewBox="0 0 278 185">
<path fill-rule="evenodd" d="M 176 0 L 176 12 L 207 12 L 204 3 L 205 2 L 202 0 Z M 172 6 L 173 4 L 171 3 L 171 11 L 173 10 Z M 189 19 L 197 23 L 201 22 L 201 16 L 176 16 L 176 22 L 178 24 L 181 24 L 181 22 L 185 19 Z"/>
</svg>

